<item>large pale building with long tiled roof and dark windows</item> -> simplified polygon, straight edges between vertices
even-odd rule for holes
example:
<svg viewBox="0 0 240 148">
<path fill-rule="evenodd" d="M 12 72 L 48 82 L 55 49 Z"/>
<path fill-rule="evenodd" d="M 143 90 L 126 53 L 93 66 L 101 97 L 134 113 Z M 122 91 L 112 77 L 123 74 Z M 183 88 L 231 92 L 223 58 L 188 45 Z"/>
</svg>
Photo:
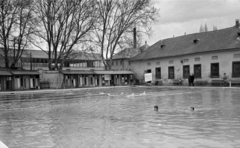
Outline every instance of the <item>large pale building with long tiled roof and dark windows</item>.
<svg viewBox="0 0 240 148">
<path fill-rule="evenodd" d="M 197 80 L 221 79 L 226 73 L 231 79 L 240 78 L 240 29 L 234 27 L 163 39 L 131 58 L 136 77 L 144 81 L 145 73 L 152 81 L 171 83 L 189 73 Z"/>
</svg>

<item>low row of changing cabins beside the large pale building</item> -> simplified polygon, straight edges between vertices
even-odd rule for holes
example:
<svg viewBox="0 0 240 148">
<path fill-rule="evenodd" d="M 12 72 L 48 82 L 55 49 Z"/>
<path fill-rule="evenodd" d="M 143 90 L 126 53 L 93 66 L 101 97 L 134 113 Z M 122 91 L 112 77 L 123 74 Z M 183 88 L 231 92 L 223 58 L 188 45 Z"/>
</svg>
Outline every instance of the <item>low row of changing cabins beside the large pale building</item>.
<svg viewBox="0 0 240 148">
<path fill-rule="evenodd" d="M 77 71 L 64 70 L 63 88 L 131 85 L 134 82 L 132 71 Z"/>
</svg>

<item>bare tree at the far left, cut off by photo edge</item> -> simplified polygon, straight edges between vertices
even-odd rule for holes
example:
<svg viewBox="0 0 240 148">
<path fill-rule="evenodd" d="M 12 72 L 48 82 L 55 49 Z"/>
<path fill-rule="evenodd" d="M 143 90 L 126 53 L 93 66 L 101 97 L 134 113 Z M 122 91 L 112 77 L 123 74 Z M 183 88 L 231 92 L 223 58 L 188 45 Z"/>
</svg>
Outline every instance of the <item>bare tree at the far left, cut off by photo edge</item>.
<svg viewBox="0 0 240 148">
<path fill-rule="evenodd" d="M 5 67 L 15 67 L 34 32 L 31 0 L 0 0 L 0 45 Z"/>
</svg>

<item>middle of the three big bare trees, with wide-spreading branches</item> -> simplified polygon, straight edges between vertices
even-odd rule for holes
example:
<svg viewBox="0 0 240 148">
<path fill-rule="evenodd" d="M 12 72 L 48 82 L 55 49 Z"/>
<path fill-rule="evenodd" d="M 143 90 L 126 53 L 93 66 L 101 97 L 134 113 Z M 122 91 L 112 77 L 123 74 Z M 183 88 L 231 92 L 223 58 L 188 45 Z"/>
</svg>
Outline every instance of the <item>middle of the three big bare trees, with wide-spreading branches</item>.
<svg viewBox="0 0 240 148">
<path fill-rule="evenodd" d="M 41 21 L 36 36 L 48 49 L 42 43 L 33 44 L 48 55 L 49 69 L 62 69 L 74 46 L 89 38 L 97 13 L 95 1 L 36 0 L 36 7 Z"/>
</svg>

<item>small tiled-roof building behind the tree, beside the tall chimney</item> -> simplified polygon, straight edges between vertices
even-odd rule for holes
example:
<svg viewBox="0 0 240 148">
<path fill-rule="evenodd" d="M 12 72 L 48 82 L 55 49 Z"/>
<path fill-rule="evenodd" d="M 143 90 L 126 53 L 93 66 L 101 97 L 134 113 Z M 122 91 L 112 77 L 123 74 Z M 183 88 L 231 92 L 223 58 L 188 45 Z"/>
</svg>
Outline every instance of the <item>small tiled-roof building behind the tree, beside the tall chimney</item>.
<svg viewBox="0 0 240 148">
<path fill-rule="evenodd" d="M 129 59 L 145 51 L 148 47 L 149 45 L 145 42 L 145 45 L 139 48 L 125 48 L 116 53 L 112 60 L 112 70 L 131 70 Z"/>
</svg>

